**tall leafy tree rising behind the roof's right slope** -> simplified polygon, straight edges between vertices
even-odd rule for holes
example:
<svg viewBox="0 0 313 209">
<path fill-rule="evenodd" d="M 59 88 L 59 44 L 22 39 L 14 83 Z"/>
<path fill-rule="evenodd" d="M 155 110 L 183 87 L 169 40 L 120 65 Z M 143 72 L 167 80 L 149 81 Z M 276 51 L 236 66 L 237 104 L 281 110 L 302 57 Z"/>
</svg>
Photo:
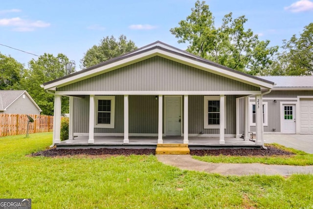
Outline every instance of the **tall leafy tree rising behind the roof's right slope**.
<svg viewBox="0 0 313 209">
<path fill-rule="evenodd" d="M 226 14 L 222 25 L 216 28 L 205 1 L 197 0 L 191 11 L 179 27 L 170 29 L 179 38 L 178 43 L 189 43 L 187 51 L 235 70 L 265 73 L 278 46 L 268 47 L 268 40 L 259 41 L 251 29 L 245 30 L 245 16 L 233 19 L 232 13 Z"/>
</svg>

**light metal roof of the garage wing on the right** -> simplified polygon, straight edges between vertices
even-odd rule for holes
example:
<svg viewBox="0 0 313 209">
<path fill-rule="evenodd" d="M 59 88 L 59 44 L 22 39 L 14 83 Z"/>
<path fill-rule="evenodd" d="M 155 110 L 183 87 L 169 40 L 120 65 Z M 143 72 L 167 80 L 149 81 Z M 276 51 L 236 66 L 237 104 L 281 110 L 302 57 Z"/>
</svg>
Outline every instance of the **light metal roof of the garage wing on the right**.
<svg viewBox="0 0 313 209">
<path fill-rule="evenodd" d="M 258 76 L 274 82 L 274 90 L 313 90 L 313 76 Z"/>
</svg>

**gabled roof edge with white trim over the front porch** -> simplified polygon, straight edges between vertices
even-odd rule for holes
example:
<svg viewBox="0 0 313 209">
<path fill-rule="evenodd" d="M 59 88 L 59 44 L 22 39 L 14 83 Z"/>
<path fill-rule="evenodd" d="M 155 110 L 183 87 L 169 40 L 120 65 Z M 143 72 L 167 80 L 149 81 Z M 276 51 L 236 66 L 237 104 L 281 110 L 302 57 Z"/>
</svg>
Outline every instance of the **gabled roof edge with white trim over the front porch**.
<svg viewBox="0 0 313 209">
<path fill-rule="evenodd" d="M 224 77 L 238 80 L 253 86 L 262 87 L 262 89 L 271 89 L 273 82 L 258 78 L 237 70 L 227 68 L 223 65 L 203 59 L 199 56 L 191 54 L 179 48 L 156 41 L 150 45 L 143 46 L 132 52 L 112 58 L 103 63 L 94 65 L 84 70 L 71 73 L 62 78 L 55 79 L 43 84 L 43 88 L 56 90 L 56 87 L 66 86 L 68 84 L 81 81 L 111 70 L 115 70 L 133 63 L 154 57 L 160 56 L 169 60 L 173 60 L 191 67 L 212 72 Z"/>
</svg>

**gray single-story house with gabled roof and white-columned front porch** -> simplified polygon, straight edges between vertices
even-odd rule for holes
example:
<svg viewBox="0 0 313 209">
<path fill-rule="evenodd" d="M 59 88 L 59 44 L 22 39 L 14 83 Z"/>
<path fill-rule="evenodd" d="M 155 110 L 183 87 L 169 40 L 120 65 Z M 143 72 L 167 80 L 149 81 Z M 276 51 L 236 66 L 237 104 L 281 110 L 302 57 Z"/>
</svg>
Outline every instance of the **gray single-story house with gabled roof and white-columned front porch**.
<svg viewBox="0 0 313 209">
<path fill-rule="evenodd" d="M 61 96 L 70 98 L 68 143 L 84 137 L 90 146 L 109 137 L 127 145 L 131 137 L 156 144 L 169 136 L 185 144 L 213 137 L 223 145 L 236 139 L 241 122 L 249 130 L 240 99 L 253 96 L 253 144 L 262 146 L 263 97 L 274 82 L 157 41 L 42 87 L 55 95 L 53 144 L 61 144 Z"/>
</svg>

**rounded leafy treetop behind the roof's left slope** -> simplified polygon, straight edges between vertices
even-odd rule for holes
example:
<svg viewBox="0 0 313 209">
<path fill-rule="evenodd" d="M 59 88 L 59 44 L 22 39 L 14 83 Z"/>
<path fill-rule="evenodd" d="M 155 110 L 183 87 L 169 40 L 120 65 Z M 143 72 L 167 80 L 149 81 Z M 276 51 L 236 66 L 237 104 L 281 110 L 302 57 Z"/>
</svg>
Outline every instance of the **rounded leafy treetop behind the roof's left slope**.
<svg viewBox="0 0 313 209">
<path fill-rule="evenodd" d="M 113 36 L 105 37 L 98 46 L 94 45 L 87 50 L 81 59 L 81 67 L 88 68 L 106 60 L 112 59 L 129 51 L 137 49 L 132 40 L 127 41 L 126 36 L 120 35 L 118 40 Z"/>
</svg>

